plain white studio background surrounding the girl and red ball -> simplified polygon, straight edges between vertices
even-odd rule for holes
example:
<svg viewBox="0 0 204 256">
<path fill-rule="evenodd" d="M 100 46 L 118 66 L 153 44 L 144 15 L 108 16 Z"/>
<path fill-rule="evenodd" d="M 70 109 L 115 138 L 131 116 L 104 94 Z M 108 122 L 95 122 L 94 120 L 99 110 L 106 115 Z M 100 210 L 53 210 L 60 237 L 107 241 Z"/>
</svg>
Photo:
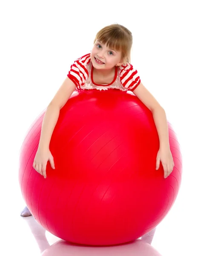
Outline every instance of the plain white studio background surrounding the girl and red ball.
<svg viewBox="0 0 204 256">
<path fill-rule="evenodd" d="M 72 62 L 90 52 L 98 30 L 119 23 L 132 32 L 132 64 L 165 109 L 183 155 L 178 199 L 152 245 L 163 256 L 184 255 L 190 249 L 200 252 L 204 228 L 202 2 L 140 0 L 134 6 L 133 1 L 120 0 L 0 2 L 0 222 L 5 232 L 12 216 L 24 206 L 18 157 L 29 126 L 49 104 Z"/>
</svg>

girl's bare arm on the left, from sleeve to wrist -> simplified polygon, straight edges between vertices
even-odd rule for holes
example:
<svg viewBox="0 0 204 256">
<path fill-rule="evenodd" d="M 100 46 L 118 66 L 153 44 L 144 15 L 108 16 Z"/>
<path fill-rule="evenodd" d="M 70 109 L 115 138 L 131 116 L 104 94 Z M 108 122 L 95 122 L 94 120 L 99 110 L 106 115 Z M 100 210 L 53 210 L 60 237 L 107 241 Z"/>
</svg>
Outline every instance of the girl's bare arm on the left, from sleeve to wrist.
<svg viewBox="0 0 204 256">
<path fill-rule="evenodd" d="M 54 98 L 49 103 L 43 118 L 38 148 L 49 148 L 49 143 L 59 117 L 60 109 L 66 104 L 75 88 L 75 84 L 68 77 L 66 77 Z"/>
</svg>

